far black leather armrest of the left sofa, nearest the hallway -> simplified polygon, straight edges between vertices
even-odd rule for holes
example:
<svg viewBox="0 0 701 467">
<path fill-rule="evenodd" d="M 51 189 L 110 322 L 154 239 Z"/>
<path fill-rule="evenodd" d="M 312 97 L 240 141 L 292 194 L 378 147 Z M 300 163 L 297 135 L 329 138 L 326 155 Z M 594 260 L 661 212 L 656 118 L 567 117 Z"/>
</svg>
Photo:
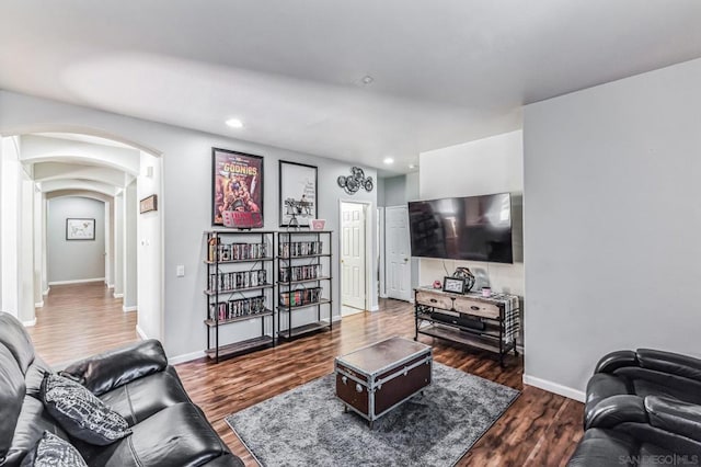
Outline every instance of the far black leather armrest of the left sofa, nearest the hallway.
<svg viewBox="0 0 701 467">
<path fill-rule="evenodd" d="M 163 346 L 150 339 L 73 363 L 59 374 L 100 396 L 166 366 Z"/>
</svg>

